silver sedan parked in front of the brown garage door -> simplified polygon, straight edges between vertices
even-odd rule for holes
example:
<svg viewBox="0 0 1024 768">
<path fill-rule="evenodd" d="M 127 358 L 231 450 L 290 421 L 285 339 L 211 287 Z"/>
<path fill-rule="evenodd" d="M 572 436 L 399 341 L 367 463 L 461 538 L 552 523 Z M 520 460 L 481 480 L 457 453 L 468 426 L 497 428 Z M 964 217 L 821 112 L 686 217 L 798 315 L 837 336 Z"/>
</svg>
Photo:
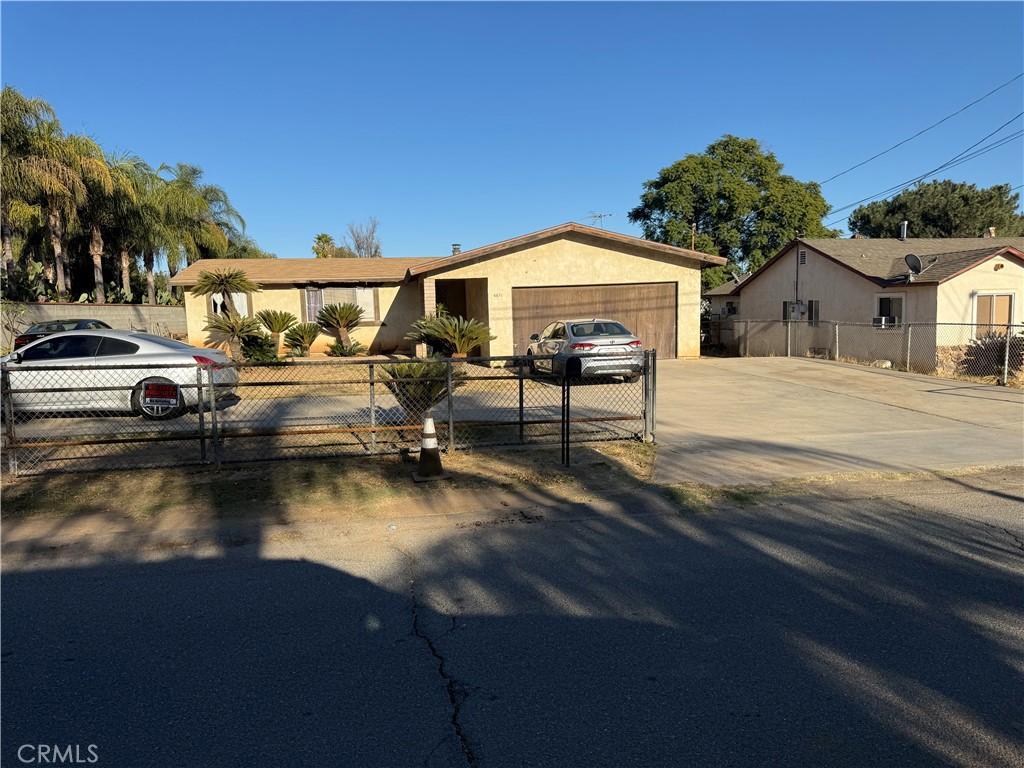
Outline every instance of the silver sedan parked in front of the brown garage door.
<svg viewBox="0 0 1024 768">
<path fill-rule="evenodd" d="M 555 321 L 529 341 L 526 358 L 535 373 L 564 376 L 572 357 L 580 358 L 584 377 L 622 376 L 636 381 L 643 371 L 643 342 L 617 321 Z"/>
</svg>

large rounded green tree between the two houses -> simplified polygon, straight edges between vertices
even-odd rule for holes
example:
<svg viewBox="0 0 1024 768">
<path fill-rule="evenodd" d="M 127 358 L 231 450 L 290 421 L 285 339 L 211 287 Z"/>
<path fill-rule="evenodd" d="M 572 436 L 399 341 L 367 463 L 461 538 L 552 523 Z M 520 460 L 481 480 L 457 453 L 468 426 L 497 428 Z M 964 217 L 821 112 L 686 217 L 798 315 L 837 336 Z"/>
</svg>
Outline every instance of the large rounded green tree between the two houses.
<svg viewBox="0 0 1024 768">
<path fill-rule="evenodd" d="M 783 174 L 757 139 L 726 135 L 646 181 L 629 218 L 648 240 L 689 248 L 692 238 L 696 250 L 733 262 L 703 270 L 711 288 L 730 268 L 757 269 L 798 234 L 838 237 L 821 223 L 827 213 L 817 183 Z"/>
</svg>

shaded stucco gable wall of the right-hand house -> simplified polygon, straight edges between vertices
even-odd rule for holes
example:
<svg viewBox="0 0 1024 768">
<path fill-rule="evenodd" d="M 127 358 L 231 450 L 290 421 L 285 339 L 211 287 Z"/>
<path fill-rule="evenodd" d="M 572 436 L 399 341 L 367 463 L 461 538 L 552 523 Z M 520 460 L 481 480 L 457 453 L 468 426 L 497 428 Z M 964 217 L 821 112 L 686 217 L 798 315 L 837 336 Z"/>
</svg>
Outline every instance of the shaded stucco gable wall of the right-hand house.
<svg viewBox="0 0 1024 768">
<path fill-rule="evenodd" d="M 820 301 L 820 319 L 870 324 L 877 296 L 902 295 L 905 322 L 935 322 L 935 286 L 882 288 L 810 249 L 805 250 L 807 263 L 800 265 L 800 300 Z M 797 249 L 793 248 L 743 286 L 735 318 L 782 319 L 782 302 L 796 298 L 796 283 Z"/>
</svg>

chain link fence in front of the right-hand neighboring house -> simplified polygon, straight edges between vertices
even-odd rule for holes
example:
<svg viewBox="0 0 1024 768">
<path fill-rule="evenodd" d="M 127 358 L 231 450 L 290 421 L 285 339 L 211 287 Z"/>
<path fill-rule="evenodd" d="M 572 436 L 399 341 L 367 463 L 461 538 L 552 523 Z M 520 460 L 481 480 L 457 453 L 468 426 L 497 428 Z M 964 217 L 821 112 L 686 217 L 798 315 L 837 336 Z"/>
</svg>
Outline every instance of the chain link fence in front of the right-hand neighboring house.
<svg viewBox="0 0 1024 768">
<path fill-rule="evenodd" d="M 741 356 L 821 357 L 1024 387 L 1024 326 L 736 321 L 733 330 Z"/>
</svg>

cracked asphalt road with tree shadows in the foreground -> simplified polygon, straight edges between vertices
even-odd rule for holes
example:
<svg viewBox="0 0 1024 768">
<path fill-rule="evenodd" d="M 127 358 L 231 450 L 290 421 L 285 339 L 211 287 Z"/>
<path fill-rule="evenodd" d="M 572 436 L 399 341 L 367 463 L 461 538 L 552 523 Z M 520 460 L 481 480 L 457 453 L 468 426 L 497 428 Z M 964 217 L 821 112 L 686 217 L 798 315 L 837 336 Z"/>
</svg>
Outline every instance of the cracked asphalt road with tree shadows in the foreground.
<svg viewBox="0 0 1024 768">
<path fill-rule="evenodd" d="M 6 558 L 2 762 L 1018 766 L 1020 479 Z"/>
</svg>

